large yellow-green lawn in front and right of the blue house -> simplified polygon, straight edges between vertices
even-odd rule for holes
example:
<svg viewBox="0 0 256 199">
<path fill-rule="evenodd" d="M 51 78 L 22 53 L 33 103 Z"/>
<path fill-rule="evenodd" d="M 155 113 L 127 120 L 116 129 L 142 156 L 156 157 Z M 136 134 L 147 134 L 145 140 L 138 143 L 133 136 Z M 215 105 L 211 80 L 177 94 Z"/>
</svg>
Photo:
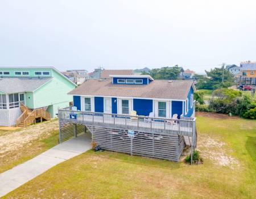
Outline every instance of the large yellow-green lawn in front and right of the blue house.
<svg viewBox="0 0 256 199">
<path fill-rule="evenodd" d="M 6 198 L 255 198 L 256 122 L 197 115 L 204 164 L 88 151 Z"/>
</svg>

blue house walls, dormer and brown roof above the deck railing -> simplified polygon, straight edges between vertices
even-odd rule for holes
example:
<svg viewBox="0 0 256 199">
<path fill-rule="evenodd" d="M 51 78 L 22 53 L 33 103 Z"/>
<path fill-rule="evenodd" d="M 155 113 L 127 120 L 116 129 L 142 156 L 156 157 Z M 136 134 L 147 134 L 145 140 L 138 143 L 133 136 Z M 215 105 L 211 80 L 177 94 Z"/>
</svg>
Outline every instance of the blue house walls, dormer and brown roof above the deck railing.
<svg viewBox="0 0 256 199">
<path fill-rule="evenodd" d="M 98 113 L 154 117 L 193 117 L 192 81 L 154 80 L 148 75 L 111 76 L 110 80 L 89 80 L 69 94 L 77 110 Z"/>
</svg>

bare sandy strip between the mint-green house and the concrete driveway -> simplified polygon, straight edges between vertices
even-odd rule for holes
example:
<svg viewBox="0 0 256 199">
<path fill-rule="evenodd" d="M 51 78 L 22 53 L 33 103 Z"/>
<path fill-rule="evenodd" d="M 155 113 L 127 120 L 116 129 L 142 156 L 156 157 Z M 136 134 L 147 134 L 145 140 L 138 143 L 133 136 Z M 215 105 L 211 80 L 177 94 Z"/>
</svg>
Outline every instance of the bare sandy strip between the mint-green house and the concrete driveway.
<svg viewBox="0 0 256 199">
<path fill-rule="evenodd" d="M 10 131 L 0 136 L 0 157 L 10 151 L 18 150 L 31 143 L 33 140 L 42 139 L 51 134 L 51 131 L 58 130 L 58 121 L 44 122 L 32 125 L 19 131 Z"/>
</svg>

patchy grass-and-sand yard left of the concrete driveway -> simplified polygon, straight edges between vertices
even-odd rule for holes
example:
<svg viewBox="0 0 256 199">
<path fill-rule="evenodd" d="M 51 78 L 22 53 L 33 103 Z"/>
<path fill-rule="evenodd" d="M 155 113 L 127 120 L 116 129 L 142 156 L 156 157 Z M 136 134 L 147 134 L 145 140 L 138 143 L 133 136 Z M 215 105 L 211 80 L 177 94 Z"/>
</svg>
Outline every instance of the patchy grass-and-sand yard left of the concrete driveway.
<svg viewBox="0 0 256 199">
<path fill-rule="evenodd" d="M 41 154 L 58 142 L 56 120 L 15 131 L 0 131 L 0 173 Z"/>
</svg>

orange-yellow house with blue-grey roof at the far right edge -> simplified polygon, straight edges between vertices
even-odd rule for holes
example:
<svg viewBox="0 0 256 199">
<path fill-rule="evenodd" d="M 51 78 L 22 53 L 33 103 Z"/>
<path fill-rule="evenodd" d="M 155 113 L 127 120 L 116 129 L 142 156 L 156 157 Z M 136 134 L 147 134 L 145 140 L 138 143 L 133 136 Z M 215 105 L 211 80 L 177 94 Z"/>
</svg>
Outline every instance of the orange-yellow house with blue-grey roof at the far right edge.
<svg viewBox="0 0 256 199">
<path fill-rule="evenodd" d="M 256 85 L 256 62 L 241 62 L 240 70 L 240 84 Z"/>
</svg>

